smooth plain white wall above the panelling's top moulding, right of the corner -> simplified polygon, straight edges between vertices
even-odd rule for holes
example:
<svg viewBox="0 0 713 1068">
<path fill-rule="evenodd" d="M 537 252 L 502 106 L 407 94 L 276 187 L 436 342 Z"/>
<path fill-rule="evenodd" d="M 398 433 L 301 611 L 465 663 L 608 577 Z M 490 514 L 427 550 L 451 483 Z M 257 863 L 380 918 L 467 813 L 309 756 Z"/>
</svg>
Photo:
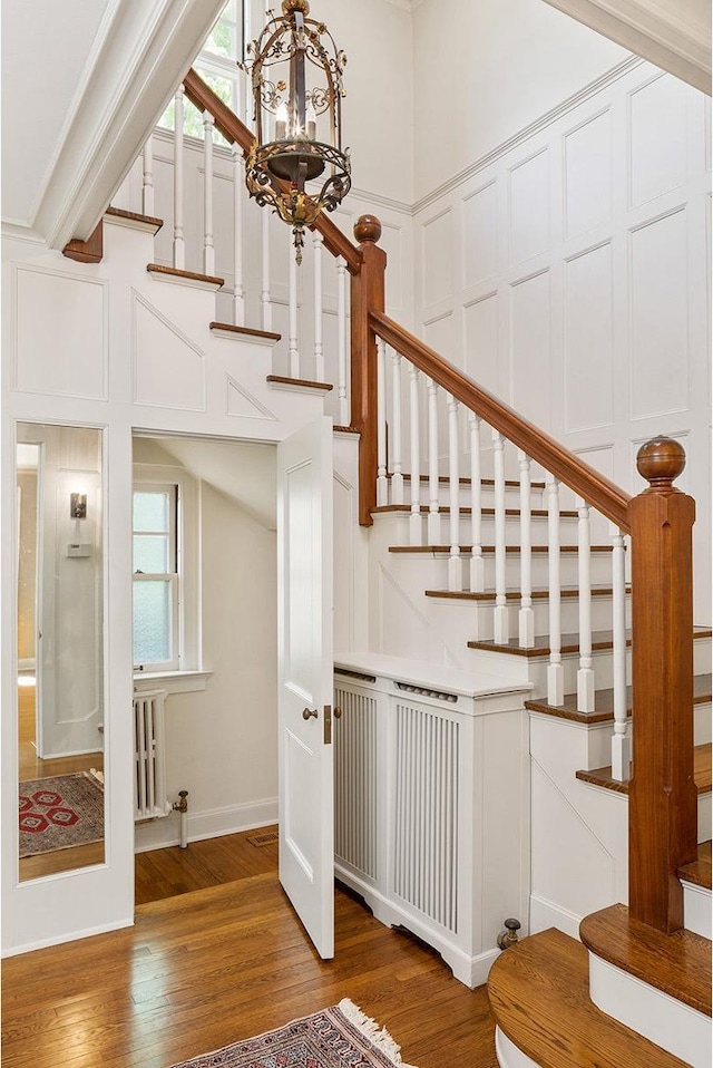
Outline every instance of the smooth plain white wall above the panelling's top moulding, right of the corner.
<svg viewBox="0 0 713 1068">
<path fill-rule="evenodd" d="M 627 56 L 541 0 L 423 0 L 413 45 L 417 202 Z"/>
</svg>

